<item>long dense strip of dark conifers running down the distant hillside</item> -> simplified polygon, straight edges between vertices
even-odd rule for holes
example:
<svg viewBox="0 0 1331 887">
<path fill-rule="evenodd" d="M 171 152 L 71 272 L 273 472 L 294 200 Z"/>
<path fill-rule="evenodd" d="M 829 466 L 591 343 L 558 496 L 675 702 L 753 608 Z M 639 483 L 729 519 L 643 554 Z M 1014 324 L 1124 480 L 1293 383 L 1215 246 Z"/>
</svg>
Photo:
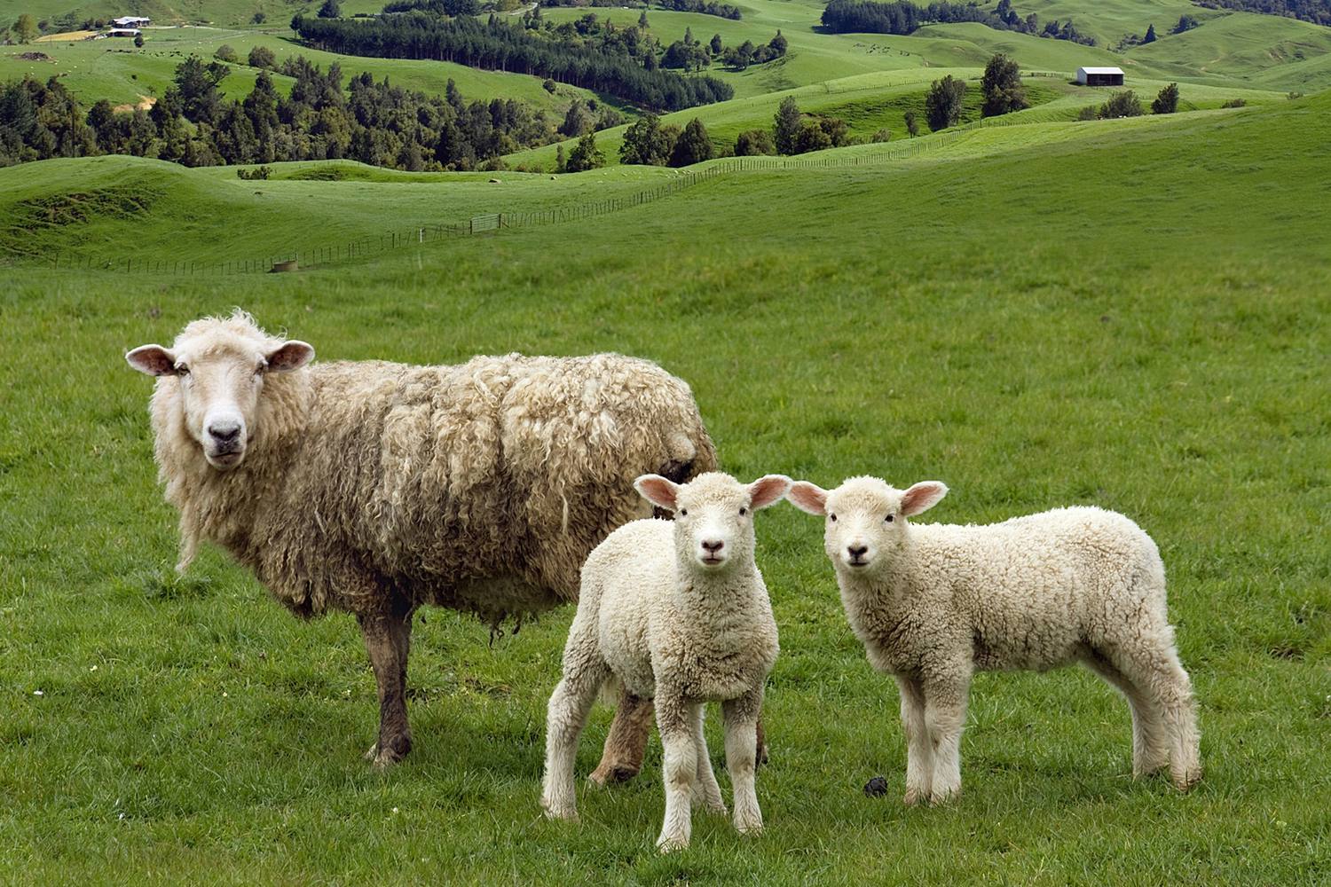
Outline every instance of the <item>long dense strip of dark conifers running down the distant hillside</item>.
<svg viewBox="0 0 1331 887">
<path fill-rule="evenodd" d="M 648 68 L 622 41 L 555 40 L 532 33 L 526 19 L 508 24 L 495 16 L 482 23 L 467 16 L 446 19 L 426 12 L 386 15 L 371 20 L 307 19 L 297 15 L 291 29 L 319 49 L 379 59 L 434 59 L 471 68 L 512 70 L 596 89 L 646 108 L 680 110 L 725 101 L 735 89 L 715 77 L 681 77 Z M 607 25 L 608 27 L 608 25 Z M 618 32 L 636 32 L 620 28 Z M 655 63 L 655 56 L 651 56 Z"/>
</svg>

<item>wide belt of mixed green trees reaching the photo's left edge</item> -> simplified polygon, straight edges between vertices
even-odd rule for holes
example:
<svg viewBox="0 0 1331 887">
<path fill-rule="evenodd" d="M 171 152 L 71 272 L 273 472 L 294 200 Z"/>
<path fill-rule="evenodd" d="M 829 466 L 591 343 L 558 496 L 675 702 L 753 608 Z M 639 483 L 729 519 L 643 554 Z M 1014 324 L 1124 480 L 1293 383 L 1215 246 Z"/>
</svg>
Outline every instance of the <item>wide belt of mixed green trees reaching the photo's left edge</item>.
<svg viewBox="0 0 1331 887">
<path fill-rule="evenodd" d="M 294 80 L 290 96 L 262 70 L 249 96 L 229 101 L 217 88 L 228 72 L 190 56 L 150 110 L 132 113 L 106 100 L 85 110 L 55 77 L 5 84 L 0 164 L 136 154 L 186 166 L 350 158 L 405 170 L 474 169 L 556 138 L 544 112 L 515 100 L 469 104 L 451 80 L 445 96 L 375 82 L 369 73 L 343 89 L 335 63 L 325 72 L 297 57 L 281 66 Z"/>
</svg>

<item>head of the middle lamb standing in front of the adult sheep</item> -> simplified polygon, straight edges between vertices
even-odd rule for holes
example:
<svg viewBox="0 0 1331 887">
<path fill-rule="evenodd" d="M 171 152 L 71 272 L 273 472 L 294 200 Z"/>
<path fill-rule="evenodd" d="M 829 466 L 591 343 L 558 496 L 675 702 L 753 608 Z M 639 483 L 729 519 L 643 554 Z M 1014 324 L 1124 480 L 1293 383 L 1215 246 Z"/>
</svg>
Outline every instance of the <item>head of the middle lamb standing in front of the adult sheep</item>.
<svg viewBox="0 0 1331 887">
<path fill-rule="evenodd" d="M 708 472 L 687 484 L 643 475 L 634 487 L 647 501 L 675 512 L 675 551 L 680 564 L 711 572 L 753 560 L 753 512 L 781 501 L 791 488 L 784 475 L 741 484 Z"/>
</svg>

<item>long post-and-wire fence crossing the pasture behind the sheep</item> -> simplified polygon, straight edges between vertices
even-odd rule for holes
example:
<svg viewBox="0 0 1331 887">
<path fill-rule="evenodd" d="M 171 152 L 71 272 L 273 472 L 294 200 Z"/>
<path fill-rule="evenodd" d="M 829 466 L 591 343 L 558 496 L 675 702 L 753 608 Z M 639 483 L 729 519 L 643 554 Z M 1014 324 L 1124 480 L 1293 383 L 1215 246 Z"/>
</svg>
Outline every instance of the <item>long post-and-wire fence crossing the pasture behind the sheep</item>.
<svg viewBox="0 0 1331 887">
<path fill-rule="evenodd" d="M 91 255 L 68 255 L 56 253 L 51 258 L 53 269 L 79 269 L 88 271 L 124 271 L 142 274 L 172 274 L 178 277 L 222 277 L 233 274 L 257 274 L 273 270 L 278 262 L 295 262 L 301 267 L 318 266 L 343 259 L 363 258 L 402 246 L 415 246 L 441 239 L 473 237 L 500 231 L 504 229 L 532 227 L 538 225 L 562 225 L 616 213 L 623 209 L 642 206 L 676 194 L 700 182 L 711 181 L 729 173 L 769 172 L 789 169 L 839 169 L 868 166 L 886 161 L 917 157 L 936 148 L 956 141 L 960 136 L 980 128 L 982 121 L 974 121 L 932 133 L 921 138 L 884 142 L 881 150 L 861 152 L 851 156 L 820 157 L 729 157 L 721 158 L 707 169 L 689 172 L 662 185 L 630 194 L 611 197 L 574 206 L 558 206 L 546 210 L 526 210 L 518 213 L 487 213 L 474 215 L 467 221 L 418 225 L 410 229 L 385 231 L 378 237 L 361 237 L 345 243 L 311 246 L 307 249 L 281 250 L 264 255 L 250 255 L 233 259 L 201 262 L 197 259 L 98 259 Z"/>
</svg>

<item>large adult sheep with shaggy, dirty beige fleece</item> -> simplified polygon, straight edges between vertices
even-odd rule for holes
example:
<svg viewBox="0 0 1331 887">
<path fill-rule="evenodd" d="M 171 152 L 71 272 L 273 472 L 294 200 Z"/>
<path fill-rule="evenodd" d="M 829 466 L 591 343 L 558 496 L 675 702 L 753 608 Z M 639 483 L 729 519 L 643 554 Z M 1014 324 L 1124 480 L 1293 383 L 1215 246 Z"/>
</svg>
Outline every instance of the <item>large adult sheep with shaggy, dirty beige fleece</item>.
<svg viewBox="0 0 1331 887">
<path fill-rule="evenodd" d="M 417 608 L 498 625 L 575 601 L 588 552 L 646 516 L 635 477 L 716 468 L 688 386 L 618 354 L 309 366 L 313 347 L 237 310 L 125 356 L 157 376 L 177 569 L 213 541 L 293 613 L 354 614 L 378 684 L 366 758 L 379 767 L 411 749 Z M 650 723 L 651 703 L 626 696 L 594 778 L 636 773 Z"/>
</svg>

